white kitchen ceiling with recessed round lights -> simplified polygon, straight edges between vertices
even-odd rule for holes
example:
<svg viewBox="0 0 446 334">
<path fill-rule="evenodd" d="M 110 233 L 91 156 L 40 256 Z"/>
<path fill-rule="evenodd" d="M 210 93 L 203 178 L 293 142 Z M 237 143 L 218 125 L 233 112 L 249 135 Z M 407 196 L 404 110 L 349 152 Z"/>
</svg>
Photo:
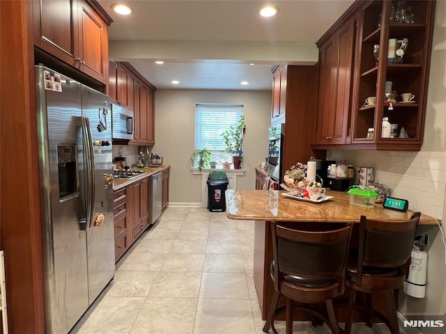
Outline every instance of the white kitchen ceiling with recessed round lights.
<svg viewBox="0 0 446 334">
<path fill-rule="evenodd" d="M 158 89 L 270 90 L 272 65 L 315 63 L 314 43 L 353 0 L 98 2 L 114 19 L 110 60 L 128 61 Z M 114 3 L 134 12 L 117 15 Z M 266 3 L 278 15 L 260 17 Z"/>
</svg>

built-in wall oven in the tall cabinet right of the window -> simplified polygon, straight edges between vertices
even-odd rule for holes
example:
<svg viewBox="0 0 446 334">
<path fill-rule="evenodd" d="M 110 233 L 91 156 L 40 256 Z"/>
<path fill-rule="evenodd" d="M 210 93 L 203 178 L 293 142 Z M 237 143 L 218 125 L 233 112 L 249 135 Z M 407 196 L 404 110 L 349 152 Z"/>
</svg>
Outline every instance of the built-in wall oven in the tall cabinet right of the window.
<svg viewBox="0 0 446 334">
<path fill-rule="evenodd" d="M 270 189 L 279 189 L 282 182 L 281 161 L 284 144 L 284 123 L 270 127 L 268 141 L 268 159 L 266 161 L 266 172 L 270 177 Z"/>
</svg>

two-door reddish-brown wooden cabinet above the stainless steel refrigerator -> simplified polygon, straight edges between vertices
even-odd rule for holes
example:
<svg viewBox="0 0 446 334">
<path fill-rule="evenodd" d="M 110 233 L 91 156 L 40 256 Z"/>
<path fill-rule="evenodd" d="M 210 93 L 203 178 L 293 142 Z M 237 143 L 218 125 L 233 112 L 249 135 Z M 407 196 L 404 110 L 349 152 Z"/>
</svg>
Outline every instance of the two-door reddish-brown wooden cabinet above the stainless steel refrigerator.
<svg viewBox="0 0 446 334">
<path fill-rule="evenodd" d="M 112 19 L 96 1 L 33 1 L 34 45 L 108 84 L 108 26 Z"/>
</svg>

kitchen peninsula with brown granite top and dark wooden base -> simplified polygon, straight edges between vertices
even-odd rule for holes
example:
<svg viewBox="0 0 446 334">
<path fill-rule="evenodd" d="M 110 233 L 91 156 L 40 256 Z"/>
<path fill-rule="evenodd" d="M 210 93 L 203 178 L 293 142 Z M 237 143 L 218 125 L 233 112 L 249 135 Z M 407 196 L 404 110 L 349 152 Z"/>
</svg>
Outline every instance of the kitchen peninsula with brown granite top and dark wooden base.
<svg viewBox="0 0 446 334">
<path fill-rule="evenodd" d="M 398 222 L 410 218 L 412 212 L 350 205 L 348 194 L 327 190 L 332 200 L 320 203 L 305 202 L 282 196 L 286 191 L 229 189 L 226 191 L 226 215 L 236 220 L 256 221 L 254 225 L 253 277 L 259 297 L 262 319 L 266 319 L 274 286 L 270 278 L 272 236 L 270 221 L 295 222 L 308 226 L 315 223 L 359 223 L 360 216 Z M 434 218 L 422 214 L 420 225 L 436 225 Z M 353 230 L 353 241 L 355 230 Z"/>
</svg>

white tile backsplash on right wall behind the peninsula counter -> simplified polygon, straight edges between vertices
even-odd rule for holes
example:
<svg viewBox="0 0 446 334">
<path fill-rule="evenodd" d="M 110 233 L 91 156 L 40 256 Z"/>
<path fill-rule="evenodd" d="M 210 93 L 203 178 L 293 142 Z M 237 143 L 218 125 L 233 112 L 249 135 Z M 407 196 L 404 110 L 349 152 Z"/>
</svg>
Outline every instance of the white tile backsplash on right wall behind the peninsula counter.
<svg viewBox="0 0 446 334">
<path fill-rule="evenodd" d="M 373 167 L 375 182 L 389 186 L 391 196 L 408 199 L 410 210 L 443 219 L 446 152 L 328 150 L 327 157 Z"/>
</svg>

